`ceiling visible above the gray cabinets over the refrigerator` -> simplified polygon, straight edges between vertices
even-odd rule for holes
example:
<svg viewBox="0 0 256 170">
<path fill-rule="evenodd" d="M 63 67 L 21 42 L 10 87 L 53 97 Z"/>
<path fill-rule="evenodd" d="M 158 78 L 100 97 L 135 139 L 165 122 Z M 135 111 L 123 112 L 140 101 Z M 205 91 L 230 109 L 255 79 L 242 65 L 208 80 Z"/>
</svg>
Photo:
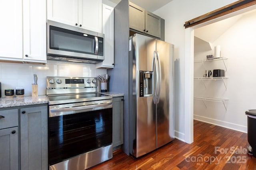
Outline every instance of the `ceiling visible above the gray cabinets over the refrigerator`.
<svg viewBox="0 0 256 170">
<path fill-rule="evenodd" d="M 110 1 L 114 2 L 115 4 L 118 4 L 121 0 Z M 154 12 L 171 1 L 172 0 L 130 0 L 130 2 L 146 9 L 149 12 Z"/>
</svg>

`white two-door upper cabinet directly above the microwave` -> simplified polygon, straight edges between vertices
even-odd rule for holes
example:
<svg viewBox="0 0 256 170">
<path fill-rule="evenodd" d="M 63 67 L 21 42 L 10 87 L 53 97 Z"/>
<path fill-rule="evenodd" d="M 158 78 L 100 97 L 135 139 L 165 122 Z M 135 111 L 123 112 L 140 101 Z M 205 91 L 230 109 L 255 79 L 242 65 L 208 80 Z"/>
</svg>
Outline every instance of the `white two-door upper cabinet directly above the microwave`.
<svg viewBox="0 0 256 170">
<path fill-rule="evenodd" d="M 48 0 L 47 19 L 102 33 L 102 0 Z"/>
</svg>

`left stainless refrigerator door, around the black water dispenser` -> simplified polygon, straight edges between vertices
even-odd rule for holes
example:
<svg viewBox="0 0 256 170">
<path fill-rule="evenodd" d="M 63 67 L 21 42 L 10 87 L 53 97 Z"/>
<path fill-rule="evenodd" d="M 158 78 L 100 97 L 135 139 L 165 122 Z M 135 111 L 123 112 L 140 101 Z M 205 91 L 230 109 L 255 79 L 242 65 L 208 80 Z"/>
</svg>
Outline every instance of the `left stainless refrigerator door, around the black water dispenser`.
<svg viewBox="0 0 256 170">
<path fill-rule="evenodd" d="M 156 104 L 153 95 L 140 97 L 140 71 L 152 71 L 156 40 L 132 38 L 132 150 L 136 158 L 156 149 Z M 154 75 L 152 75 L 154 78 Z"/>
</svg>

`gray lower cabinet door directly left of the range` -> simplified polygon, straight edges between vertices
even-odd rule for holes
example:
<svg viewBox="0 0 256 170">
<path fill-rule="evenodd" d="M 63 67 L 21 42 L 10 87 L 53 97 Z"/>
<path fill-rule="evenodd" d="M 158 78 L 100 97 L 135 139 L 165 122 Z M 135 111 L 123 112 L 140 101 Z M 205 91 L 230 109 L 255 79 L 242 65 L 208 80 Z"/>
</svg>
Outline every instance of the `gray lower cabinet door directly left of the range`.
<svg viewBox="0 0 256 170">
<path fill-rule="evenodd" d="M 20 108 L 21 170 L 48 169 L 47 106 Z"/>
</svg>

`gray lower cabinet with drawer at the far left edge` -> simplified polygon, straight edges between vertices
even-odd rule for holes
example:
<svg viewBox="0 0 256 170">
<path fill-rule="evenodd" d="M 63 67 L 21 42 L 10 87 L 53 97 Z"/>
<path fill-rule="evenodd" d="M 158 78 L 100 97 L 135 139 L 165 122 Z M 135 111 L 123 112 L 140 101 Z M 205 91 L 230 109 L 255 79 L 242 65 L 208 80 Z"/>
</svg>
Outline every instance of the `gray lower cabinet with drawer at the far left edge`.
<svg viewBox="0 0 256 170">
<path fill-rule="evenodd" d="M 18 109 L 0 111 L 0 170 L 18 170 Z"/>
</svg>

